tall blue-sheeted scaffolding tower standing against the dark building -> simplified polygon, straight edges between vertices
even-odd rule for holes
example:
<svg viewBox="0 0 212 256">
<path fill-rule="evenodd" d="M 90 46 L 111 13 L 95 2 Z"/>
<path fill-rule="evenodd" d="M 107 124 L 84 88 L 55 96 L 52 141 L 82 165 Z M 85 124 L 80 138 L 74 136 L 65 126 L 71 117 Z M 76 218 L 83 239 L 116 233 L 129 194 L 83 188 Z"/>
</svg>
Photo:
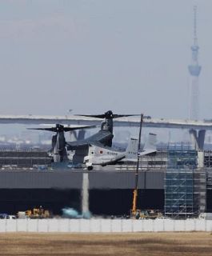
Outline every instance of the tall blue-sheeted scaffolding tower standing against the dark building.
<svg viewBox="0 0 212 256">
<path fill-rule="evenodd" d="M 198 216 L 206 210 L 206 170 L 198 167 L 198 151 L 168 151 L 165 175 L 165 214 Z"/>
</svg>

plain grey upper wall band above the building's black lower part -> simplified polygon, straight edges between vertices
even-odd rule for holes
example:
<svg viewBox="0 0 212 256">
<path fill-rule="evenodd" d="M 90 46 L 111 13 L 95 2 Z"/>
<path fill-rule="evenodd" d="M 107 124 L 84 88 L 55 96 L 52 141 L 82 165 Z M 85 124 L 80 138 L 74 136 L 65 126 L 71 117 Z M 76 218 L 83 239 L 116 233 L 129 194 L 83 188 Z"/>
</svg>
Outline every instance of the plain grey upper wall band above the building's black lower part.
<svg viewBox="0 0 212 256">
<path fill-rule="evenodd" d="M 5 170 L 0 171 L 0 189 L 81 189 L 83 170 Z M 89 173 L 90 189 L 134 189 L 132 171 L 95 171 Z M 163 172 L 142 172 L 140 189 L 162 190 Z"/>
</svg>

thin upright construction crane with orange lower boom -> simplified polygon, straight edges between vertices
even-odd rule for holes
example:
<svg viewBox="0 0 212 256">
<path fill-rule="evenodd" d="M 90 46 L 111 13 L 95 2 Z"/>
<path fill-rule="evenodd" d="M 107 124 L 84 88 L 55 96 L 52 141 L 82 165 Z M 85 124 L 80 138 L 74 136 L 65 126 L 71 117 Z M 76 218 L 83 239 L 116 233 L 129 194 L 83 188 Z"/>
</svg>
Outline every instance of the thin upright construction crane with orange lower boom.
<svg viewBox="0 0 212 256">
<path fill-rule="evenodd" d="M 141 136 L 142 136 L 142 121 L 143 121 L 143 114 L 141 114 L 141 121 L 140 121 L 140 129 L 139 129 L 139 138 L 138 138 L 138 151 L 141 148 Z M 137 158 L 137 166 L 135 172 L 135 186 L 133 192 L 133 204 L 132 209 L 130 210 L 130 215 L 133 218 L 136 218 L 138 214 L 140 214 L 141 210 L 137 209 L 137 201 L 138 201 L 138 169 L 139 169 L 139 154 Z"/>
</svg>

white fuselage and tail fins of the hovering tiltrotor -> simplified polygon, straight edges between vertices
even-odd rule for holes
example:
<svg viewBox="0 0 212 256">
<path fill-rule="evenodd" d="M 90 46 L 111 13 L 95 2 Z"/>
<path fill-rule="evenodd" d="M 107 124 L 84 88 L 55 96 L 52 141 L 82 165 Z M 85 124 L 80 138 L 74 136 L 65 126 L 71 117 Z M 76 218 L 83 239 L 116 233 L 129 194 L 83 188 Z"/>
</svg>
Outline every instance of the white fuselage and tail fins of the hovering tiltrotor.
<svg viewBox="0 0 212 256">
<path fill-rule="evenodd" d="M 149 138 L 142 152 L 138 154 L 138 139 L 130 138 L 126 151 L 114 150 L 109 146 L 102 146 L 101 143 L 89 145 L 88 155 L 84 158 L 84 163 L 88 170 L 92 170 L 94 165 L 106 166 L 116 164 L 120 161 L 137 162 L 138 156 L 156 152 L 156 134 L 149 134 Z"/>
</svg>

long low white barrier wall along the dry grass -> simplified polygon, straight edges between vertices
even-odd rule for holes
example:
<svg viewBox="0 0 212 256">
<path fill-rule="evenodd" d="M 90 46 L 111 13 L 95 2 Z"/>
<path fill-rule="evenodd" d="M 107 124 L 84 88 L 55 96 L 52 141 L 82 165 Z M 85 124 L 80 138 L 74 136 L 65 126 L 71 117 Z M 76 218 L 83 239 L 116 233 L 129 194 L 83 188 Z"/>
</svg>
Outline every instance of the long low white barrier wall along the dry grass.
<svg viewBox="0 0 212 256">
<path fill-rule="evenodd" d="M 212 220 L 204 219 L 0 219 L 2 232 L 174 232 L 212 231 Z"/>
</svg>

